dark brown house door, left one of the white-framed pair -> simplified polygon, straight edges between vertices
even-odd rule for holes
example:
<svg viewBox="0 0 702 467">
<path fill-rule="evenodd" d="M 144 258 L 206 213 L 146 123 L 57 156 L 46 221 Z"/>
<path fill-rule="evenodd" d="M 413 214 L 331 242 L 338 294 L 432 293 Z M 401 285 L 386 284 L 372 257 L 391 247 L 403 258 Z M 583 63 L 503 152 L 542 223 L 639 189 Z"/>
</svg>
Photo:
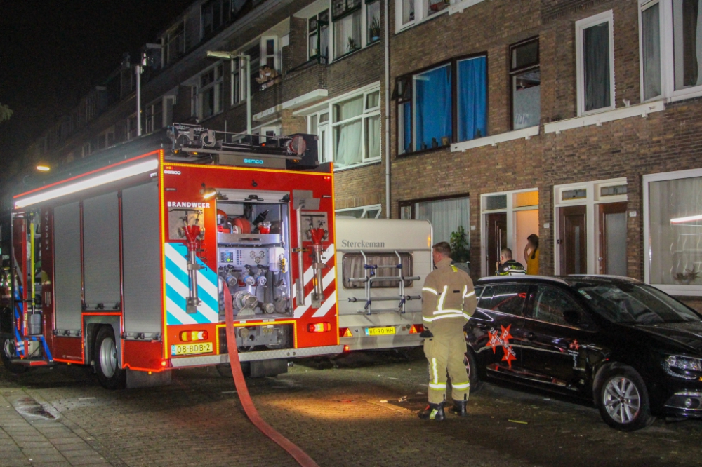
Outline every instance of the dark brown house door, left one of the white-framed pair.
<svg viewBox="0 0 702 467">
<path fill-rule="evenodd" d="M 568 206 L 561 208 L 560 235 L 561 273 L 585 274 L 588 271 L 588 258 L 585 245 L 585 216 L 586 207 Z"/>
</svg>

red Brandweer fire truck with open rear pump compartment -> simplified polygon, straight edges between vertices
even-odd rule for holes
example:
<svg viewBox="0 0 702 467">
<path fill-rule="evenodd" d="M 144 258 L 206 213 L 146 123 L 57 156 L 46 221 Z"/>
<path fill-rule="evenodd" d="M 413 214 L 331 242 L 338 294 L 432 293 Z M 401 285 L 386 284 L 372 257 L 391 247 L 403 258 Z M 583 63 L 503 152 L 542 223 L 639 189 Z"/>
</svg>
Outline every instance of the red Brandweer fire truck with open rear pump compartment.
<svg viewBox="0 0 702 467">
<path fill-rule="evenodd" d="M 29 180 L 0 237 L 1 356 L 92 365 L 107 388 L 229 362 L 251 374 L 339 345 L 333 171 L 317 137 L 175 124 Z M 34 183 L 34 186 L 31 184 Z"/>
</svg>

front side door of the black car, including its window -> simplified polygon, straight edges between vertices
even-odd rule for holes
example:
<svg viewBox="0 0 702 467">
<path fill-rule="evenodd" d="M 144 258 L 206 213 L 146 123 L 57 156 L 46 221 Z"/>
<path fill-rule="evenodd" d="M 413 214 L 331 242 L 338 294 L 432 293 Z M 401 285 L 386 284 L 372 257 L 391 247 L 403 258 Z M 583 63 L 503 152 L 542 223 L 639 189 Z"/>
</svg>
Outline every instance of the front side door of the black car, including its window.
<svg viewBox="0 0 702 467">
<path fill-rule="evenodd" d="M 527 377 L 578 390 L 585 379 L 585 350 L 591 332 L 587 314 L 567 290 L 538 285 L 524 323 L 522 363 Z M 574 317 L 578 317 L 574 319 Z"/>
</svg>

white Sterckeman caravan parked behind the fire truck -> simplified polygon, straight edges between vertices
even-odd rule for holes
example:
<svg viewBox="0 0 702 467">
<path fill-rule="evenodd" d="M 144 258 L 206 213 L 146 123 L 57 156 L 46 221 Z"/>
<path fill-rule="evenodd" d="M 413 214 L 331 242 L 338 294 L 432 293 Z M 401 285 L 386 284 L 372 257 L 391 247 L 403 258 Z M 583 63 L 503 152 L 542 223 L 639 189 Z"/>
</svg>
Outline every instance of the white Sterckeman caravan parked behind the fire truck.
<svg viewBox="0 0 702 467">
<path fill-rule="evenodd" d="M 344 350 L 421 344 L 422 286 L 433 268 L 430 222 L 337 216 L 336 245 Z"/>
</svg>

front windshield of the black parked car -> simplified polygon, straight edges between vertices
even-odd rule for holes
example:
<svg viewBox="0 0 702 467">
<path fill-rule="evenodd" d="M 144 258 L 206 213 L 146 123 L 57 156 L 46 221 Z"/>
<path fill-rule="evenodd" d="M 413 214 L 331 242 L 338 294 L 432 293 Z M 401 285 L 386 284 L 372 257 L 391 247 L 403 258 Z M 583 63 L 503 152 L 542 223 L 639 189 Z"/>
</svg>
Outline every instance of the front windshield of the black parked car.
<svg viewBox="0 0 702 467">
<path fill-rule="evenodd" d="M 700 321 L 702 317 L 655 287 L 628 283 L 576 283 L 592 309 L 615 323 L 660 324 Z"/>
</svg>

